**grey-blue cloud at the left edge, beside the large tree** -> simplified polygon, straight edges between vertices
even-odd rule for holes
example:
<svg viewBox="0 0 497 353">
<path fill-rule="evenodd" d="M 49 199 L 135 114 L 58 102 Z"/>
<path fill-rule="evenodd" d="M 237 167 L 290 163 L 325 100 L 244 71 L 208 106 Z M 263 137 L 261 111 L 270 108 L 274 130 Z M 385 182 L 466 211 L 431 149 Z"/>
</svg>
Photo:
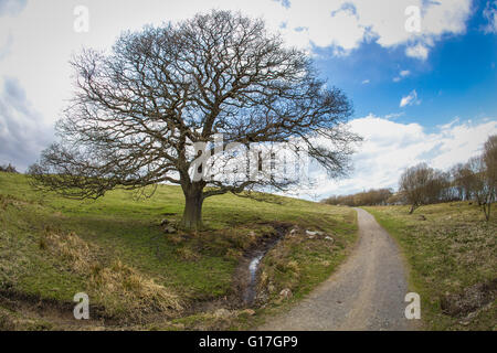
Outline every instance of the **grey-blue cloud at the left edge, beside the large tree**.
<svg viewBox="0 0 497 353">
<path fill-rule="evenodd" d="M 29 103 L 19 82 L 3 77 L 0 88 L 0 164 L 12 163 L 23 171 L 53 138 L 50 127 Z"/>
</svg>

